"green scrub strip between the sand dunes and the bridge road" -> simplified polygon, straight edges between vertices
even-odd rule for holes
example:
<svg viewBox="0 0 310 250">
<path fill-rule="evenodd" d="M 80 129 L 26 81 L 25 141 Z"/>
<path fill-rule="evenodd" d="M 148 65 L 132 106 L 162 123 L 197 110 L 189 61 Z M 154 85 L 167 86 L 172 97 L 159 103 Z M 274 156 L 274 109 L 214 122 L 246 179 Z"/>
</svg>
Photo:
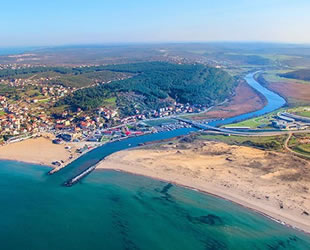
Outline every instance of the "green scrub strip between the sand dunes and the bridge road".
<svg viewBox="0 0 310 250">
<path fill-rule="evenodd" d="M 197 139 L 208 141 L 220 141 L 232 145 L 239 146 L 251 146 L 264 150 L 276 150 L 283 149 L 283 145 L 286 139 L 286 135 L 281 136 L 225 136 L 225 135 L 212 135 L 207 133 L 201 133 L 197 136 Z"/>
</svg>

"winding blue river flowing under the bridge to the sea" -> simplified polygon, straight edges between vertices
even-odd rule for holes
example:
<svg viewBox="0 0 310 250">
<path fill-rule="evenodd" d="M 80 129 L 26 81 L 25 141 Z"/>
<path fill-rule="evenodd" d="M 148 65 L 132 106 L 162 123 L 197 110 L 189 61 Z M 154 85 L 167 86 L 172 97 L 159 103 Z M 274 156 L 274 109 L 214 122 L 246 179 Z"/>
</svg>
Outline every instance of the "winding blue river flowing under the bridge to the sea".
<svg viewBox="0 0 310 250">
<path fill-rule="evenodd" d="M 209 123 L 210 126 L 218 127 L 221 125 L 230 124 L 241 120 L 246 120 L 249 118 L 253 118 L 255 116 L 270 113 L 285 105 L 286 101 L 281 96 L 263 87 L 254 79 L 255 74 L 257 74 L 257 72 L 249 73 L 248 75 L 246 75 L 245 80 L 253 89 L 258 91 L 266 98 L 267 105 L 262 109 L 254 112 L 238 115 L 224 120 L 216 120 L 210 122 Z M 157 134 L 138 136 L 134 138 L 128 138 L 122 141 L 108 143 L 86 153 L 85 155 L 82 155 L 81 157 L 71 162 L 69 165 L 67 165 L 57 173 L 53 174 L 52 178 L 53 179 L 58 178 L 61 180 L 61 184 L 71 187 L 72 185 L 74 185 L 76 182 L 79 181 L 79 178 L 77 178 L 78 176 L 81 176 L 81 178 L 83 178 L 84 176 L 88 175 L 89 170 L 95 169 L 94 165 L 96 165 L 98 162 L 100 162 L 102 159 L 104 159 L 106 156 L 112 153 L 124 149 L 137 147 L 141 143 L 169 139 L 176 136 L 186 135 L 194 131 L 197 131 L 197 129 L 182 128 L 174 131 L 160 132 Z M 85 173 L 85 175 L 83 173 Z"/>
</svg>

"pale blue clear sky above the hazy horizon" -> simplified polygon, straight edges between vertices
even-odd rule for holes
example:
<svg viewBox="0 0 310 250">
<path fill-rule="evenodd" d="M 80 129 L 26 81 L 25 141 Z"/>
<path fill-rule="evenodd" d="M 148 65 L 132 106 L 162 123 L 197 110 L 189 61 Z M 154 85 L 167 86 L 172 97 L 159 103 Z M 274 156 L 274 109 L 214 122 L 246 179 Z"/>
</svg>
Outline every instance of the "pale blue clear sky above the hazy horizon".
<svg viewBox="0 0 310 250">
<path fill-rule="evenodd" d="M 0 0 L 0 46 L 310 43 L 310 0 Z"/>
</svg>

